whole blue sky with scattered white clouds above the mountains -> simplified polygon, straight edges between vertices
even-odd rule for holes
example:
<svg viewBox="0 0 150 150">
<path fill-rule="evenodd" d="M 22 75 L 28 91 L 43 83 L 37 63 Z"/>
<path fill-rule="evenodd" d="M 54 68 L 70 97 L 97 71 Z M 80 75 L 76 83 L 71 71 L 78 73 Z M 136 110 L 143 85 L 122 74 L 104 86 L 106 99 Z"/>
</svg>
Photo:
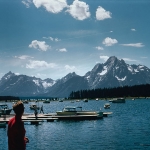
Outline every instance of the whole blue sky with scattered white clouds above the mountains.
<svg viewBox="0 0 150 150">
<path fill-rule="evenodd" d="M 149 0 L 0 0 L 0 78 L 84 76 L 111 56 L 150 68 Z"/>
</svg>

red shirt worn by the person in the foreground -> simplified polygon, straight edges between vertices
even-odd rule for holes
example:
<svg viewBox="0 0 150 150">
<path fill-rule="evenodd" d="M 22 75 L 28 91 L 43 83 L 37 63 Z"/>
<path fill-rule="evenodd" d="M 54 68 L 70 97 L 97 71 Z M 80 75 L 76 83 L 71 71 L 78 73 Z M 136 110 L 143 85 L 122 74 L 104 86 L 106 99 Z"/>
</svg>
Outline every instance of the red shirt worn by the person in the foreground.
<svg viewBox="0 0 150 150">
<path fill-rule="evenodd" d="M 9 150 L 25 150 L 25 128 L 21 117 L 13 117 L 8 122 L 8 149 Z"/>
</svg>

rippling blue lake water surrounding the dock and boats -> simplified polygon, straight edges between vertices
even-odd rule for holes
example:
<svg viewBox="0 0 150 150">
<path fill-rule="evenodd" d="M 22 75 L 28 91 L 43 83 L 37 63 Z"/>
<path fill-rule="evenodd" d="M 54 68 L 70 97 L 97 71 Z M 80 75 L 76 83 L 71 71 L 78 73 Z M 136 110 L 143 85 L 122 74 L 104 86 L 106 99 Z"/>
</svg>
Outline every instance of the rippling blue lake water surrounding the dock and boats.
<svg viewBox="0 0 150 150">
<path fill-rule="evenodd" d="M 39 102 L 45 113 L 62 110 L 64 106 L 82 106 L 86 110 L 102 108 L 113 114 L 100 120 L 25 123 L 26 136 L 30 140 L 27 150 L 150 150 L 150 100 L 111 103 L 111 108 L 104 110 L 106 102 Z M 25 113 L 33 113 L 30 104 L 25 104 Z M 0 128 L 0 150 L 7 149 L 7 127 Z"/>
</svg>

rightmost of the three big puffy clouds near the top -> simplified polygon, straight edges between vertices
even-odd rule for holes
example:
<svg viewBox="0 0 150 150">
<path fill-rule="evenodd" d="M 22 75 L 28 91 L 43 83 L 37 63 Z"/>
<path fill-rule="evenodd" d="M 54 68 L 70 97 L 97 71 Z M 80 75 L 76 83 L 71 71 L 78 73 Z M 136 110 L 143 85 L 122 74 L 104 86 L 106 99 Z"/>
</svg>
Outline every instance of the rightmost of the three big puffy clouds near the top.
<svg viewBox="0 0 150 150">
<path fill-rule="evenodd" d="M 109 19 L 111 18 L 111 12 L 106 11 L 104 8 L 101 6 L 98 6 L 96 10 L 96 19 L 97 20 L 104 20 L 104 19 Z"/>
</svg>

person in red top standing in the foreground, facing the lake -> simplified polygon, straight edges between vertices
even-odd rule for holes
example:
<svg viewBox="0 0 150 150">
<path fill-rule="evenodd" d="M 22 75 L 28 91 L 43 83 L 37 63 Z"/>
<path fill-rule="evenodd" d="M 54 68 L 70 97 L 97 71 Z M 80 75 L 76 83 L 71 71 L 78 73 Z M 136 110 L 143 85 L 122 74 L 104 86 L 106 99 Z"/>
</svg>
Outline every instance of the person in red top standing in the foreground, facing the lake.
<svg viewBox="0 0 150 150">
<path fill-rule="evenodd" d="M 26 143 L 29 139 L 25 137 L 26 130 L 22 121 L 24 113 L 24 105 L 18 101 L 13 105 L 15 116 L 8 122 L 7 136 L 8 136 L 8 150 L 25 150 Z"/>
</svg>

